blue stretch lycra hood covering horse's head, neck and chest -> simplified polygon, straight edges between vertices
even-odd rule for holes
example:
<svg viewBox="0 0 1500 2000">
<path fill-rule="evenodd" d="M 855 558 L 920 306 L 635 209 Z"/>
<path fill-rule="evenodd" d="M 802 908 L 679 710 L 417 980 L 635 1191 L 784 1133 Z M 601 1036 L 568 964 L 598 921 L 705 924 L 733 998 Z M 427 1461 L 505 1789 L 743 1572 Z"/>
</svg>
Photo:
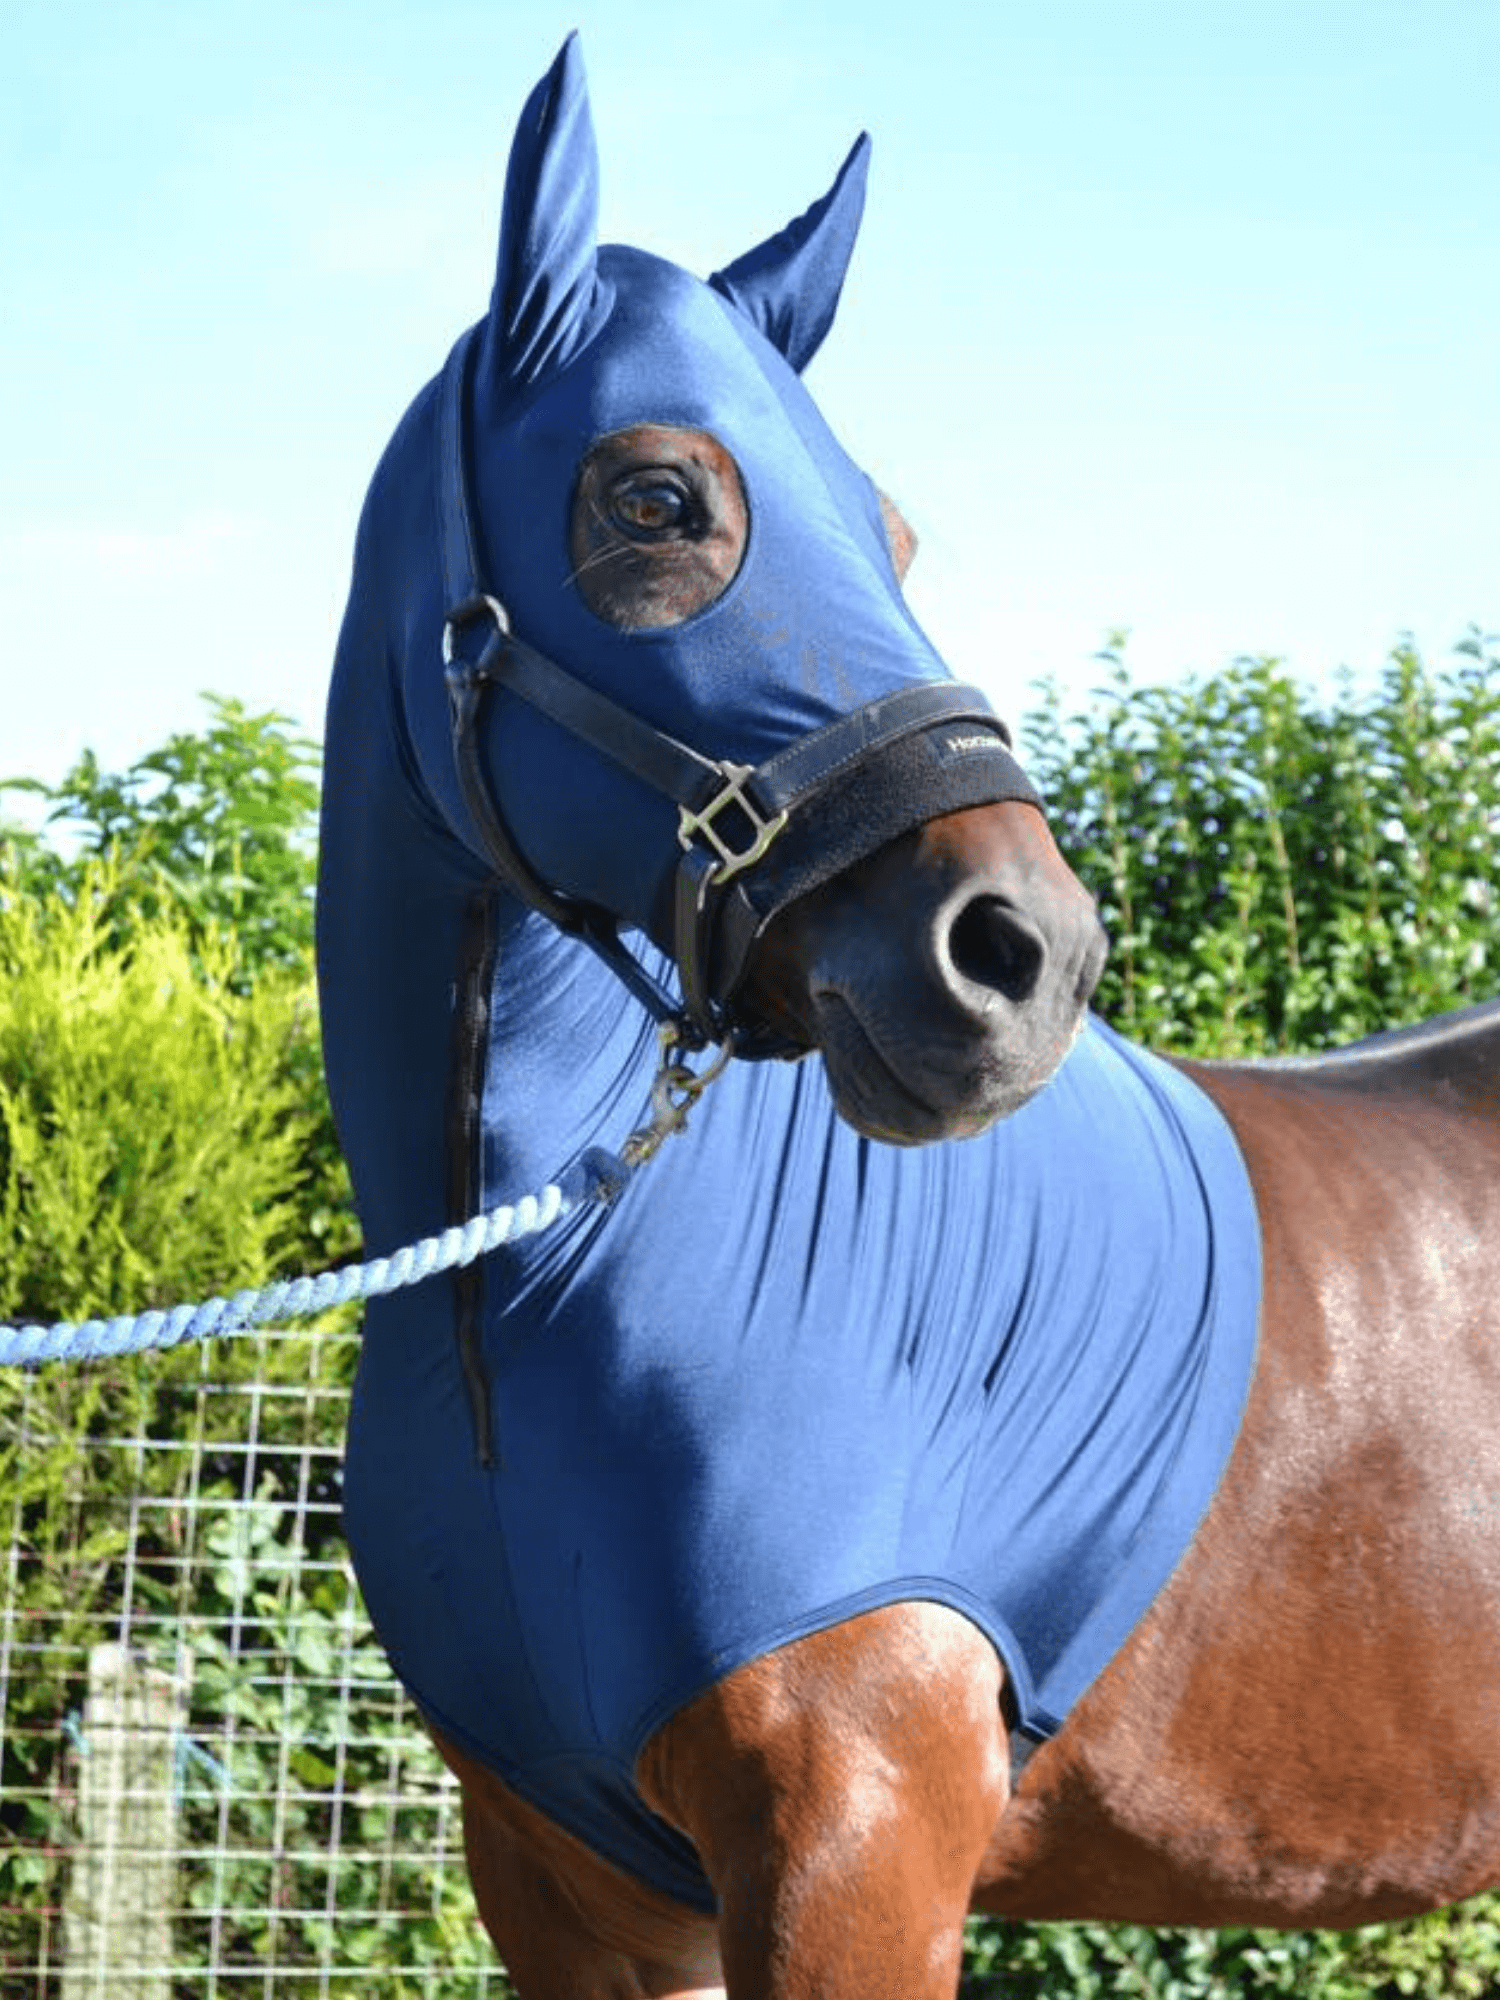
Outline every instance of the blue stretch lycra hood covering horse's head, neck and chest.
<svg viewBox="0 0 1500 2000">
<path fill-rule="evenodd" d="M 472 398 L 486 564 L 528 640 L 710 756 L 942 674 L 796 374 L 862 172 L 858 148 L 708 288 L 596 250 L 572 44 L 516 142 Z M 454 774 L 438 402 L 372 486 L 326 730 L 324 1056 L 374 1252 L 564 1174 L 642 1120 L 656 1068 L 612 972 L 496 880 Z M 568 508 L 594 436 L 646 420 L 722 438 L 750 546 L 710 610 L 620 634 L 568 582 Z M 670 808 L 522 700 L 484 734 L 536 866 L 644 918 Z M 1258 1268 L 1222 1116 L 1100 1026 L 1014 1118 L 910 1152 L 842 1124 L 816 1064 L 732 1062 L 616 1210 L 370 1304 L 344 1484 L 370 1616 L 456 1744 L 712 1910 L 636 1788 L 652 1732 L 770 1648 L 922 1598 L 1050 1734 L 1214 1492 Z"/>
</svg>

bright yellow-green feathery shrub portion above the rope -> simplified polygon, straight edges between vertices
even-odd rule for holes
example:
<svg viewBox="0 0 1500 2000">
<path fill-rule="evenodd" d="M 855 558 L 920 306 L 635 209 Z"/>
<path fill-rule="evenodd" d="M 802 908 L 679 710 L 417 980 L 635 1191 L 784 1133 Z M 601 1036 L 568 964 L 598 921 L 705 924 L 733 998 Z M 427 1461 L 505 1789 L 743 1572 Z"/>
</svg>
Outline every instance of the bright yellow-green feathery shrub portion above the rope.
<svg viewBox="0 0 1500 2000">
<path fill-rule="evenodd" d="M 240 990 L 232 936 L 170 914 L 110 936 L 120 866 L 72 902 L 0 874 L 0 1318 L 170 1304 L 276 1266 L 312 1120 L 290 1054 L 306 970 Z"/>
</svg>

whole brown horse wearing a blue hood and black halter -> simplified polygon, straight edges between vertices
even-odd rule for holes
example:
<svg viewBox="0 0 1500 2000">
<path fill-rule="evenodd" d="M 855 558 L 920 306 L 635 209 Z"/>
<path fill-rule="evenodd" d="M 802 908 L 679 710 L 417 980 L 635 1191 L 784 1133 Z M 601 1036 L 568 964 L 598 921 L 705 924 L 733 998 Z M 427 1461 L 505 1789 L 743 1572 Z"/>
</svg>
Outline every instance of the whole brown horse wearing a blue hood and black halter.
<svg viewBox="0 0 1500 2000">
<path fill-rule="evenodd" d="M 1090 1014 L 1094 902 L 800 378 L 866 158 L 708 284 L 600 246 L 570 40 L 356 540 L 366 1240 L 658 1110 L 610 1204 L 372 1304 L 352 1398 L 526 2000 L 938 2000 L 970 1910 L 1500 1882 L 1500 1010 L 1218 1066 Z"/>
</svg>

